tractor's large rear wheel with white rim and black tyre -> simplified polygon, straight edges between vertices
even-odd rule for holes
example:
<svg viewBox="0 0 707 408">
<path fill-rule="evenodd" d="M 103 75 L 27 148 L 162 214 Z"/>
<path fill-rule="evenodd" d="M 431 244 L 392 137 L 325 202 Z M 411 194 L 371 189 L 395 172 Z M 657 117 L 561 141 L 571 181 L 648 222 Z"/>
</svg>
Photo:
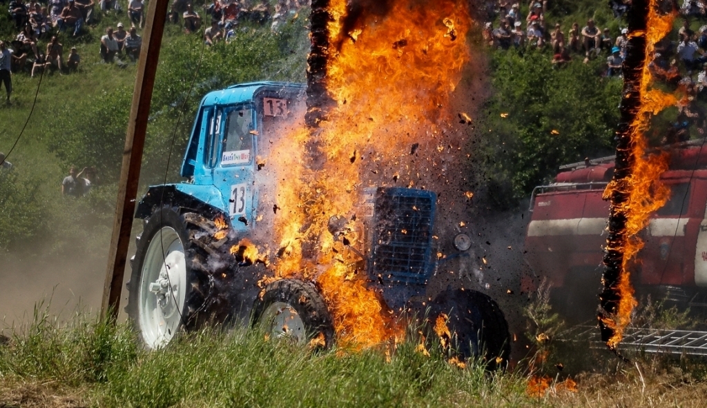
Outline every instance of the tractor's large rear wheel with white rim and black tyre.
<svg viewBox="0 0 707 408">
<path fill-rule="evenodd" d="M 204 306 L 207 275 L 195 270 L 187 223 L 172 208 L 145 222 L 128 289 L 127 313 L 148 349 L 166 346 L 177 332 L 193 328 Z"/>
</svg>

